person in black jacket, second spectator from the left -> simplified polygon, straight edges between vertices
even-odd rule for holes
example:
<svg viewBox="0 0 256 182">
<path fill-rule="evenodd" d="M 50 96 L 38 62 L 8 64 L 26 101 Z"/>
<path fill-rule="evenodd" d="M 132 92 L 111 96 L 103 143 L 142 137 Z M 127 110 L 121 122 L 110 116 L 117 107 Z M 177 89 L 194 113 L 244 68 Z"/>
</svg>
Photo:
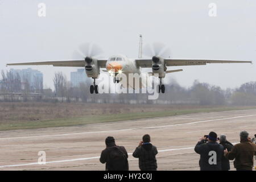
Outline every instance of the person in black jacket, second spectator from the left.
<svg viewBox="0 0 256 182">
<path fill-rule="evenodd" d="M 156 171 L 156 168 L 158 168 L 155 158 L 158 150 L 150 142 L 150 135 L 144 135 L 142 141 L 139 142 L 139 146 L 133 152 L 134 158 L 139 158 L 139 169 L 141 171 Z"/>
</svg>

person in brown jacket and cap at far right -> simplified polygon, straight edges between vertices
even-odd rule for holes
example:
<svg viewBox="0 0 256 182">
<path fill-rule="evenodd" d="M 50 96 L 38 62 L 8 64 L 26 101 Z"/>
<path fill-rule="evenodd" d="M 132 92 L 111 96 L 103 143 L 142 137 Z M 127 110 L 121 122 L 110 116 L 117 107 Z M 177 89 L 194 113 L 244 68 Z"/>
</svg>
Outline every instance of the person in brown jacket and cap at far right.
<svg viewBox="0 0 256 182">
<path fill-rule="evenodd" d="M 235 159 L 234 167 L 237 171 L 252 171 L 256 145 L 250 142 L 247 131 L 241 131 L 240 143 L 236 144 L 230 152 L 225 150 L 224 154 L 229 160 Z"/>
</svg>

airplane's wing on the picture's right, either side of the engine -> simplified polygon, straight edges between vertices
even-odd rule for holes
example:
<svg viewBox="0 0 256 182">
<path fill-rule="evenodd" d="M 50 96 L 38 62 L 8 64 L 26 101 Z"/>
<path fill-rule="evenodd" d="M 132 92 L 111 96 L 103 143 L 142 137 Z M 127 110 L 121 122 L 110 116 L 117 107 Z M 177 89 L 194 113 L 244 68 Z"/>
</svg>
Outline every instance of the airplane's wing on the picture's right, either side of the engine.
<svg viewBox="0 0 256 182">
<path fill-rule="evenodd" d="M 142 68 L 151 68 L 151 59 L 136 59 L 137 65 Z M 187 65 L 206 65 L 207 63 L 252 63 L 251 61 L 235 60 L 199 60 L 199 59 L 164 59 L 167 67 L 187 66 Z"/>
</svg>

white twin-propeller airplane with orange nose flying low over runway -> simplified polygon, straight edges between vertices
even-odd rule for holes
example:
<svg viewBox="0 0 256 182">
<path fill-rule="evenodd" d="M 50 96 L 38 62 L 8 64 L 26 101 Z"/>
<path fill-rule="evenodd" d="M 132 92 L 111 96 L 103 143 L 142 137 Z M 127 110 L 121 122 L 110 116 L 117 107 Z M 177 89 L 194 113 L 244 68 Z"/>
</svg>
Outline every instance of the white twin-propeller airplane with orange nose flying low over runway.
<svg viewBox="0 0 256 182">
<path fill-rule="evenodd" d="M 140 35 L 141 37 L 141 35 Z M 140 49 L 142 43 L 140 42 Z M 83 59 L 80 60 L 59 60 L 59 61 L 42 61 L 42 62 L 30 62 L 30 63 L 12 63 L 7 65 L 53 65 L 53 67 L 83 67 L 87 77 L 93 78 L 93 85 L 90 85 L 90 93 L 98 93 L 98 85 L 96 84 L 96 79 L 100 76 L 100 68 L 106 68 L 105 72 L 108 72 L 110 76 L 113 76 L 114 83 L 119 83 L 119 74 L 128 75 L 129 73 L 142 73 L 141 68 L 151 68 L 152 75 L 157 75 L 159 77 L 158 93 L 165 92 L 165 86 L 162 83 L 162 78 L 166 76 L 167 73 L 174 73 L 183 71 L 183 69 L 167 70 L 167 67 L 177 67 L 185 65 L 206 65 L 212 63 L 252 63 L 252 61 L 238 61 L 238 60 L 209 60 L 209 59 L 170 59 L 163 57 L 163 46 L 153 46 L 152 56 L 150 58 L 142 58 L 142 51 L 139 52 L 138 59 L 131 59 L 124 55 L 114 55 L 110 56 L 108 59 L 97 59 L 95 54 L 92 52 L 97 52 L 93 50 L 87 51 L 87 55 L 84 55 Z M 89 53 L 90 52 L 90 53 Z M 140 79 L 140 85 L 141 79 Z M 134 85 L 122 85 L 122 87 L 129 86 L 134 88 Z M 140 86 L 142 88 L 142 86 Z"/>
</svg>

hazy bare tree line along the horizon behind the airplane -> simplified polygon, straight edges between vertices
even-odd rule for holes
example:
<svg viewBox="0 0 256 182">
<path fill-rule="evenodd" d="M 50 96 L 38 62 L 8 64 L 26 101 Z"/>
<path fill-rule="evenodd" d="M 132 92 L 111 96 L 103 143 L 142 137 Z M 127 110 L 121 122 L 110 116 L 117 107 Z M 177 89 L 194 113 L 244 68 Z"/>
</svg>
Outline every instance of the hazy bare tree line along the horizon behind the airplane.
<svg viewBox="0 0 256 182">
<path fill-rule="evenodd" d="M 1 72 L 0 94 L 13 92 L 41 93 L 43 101 L 61 102 L 99 102 L 126 104 L 198 104 L 198 105 L 256 105 L 256 81 L 242 84 L 237 89 L 221 89 L 220 86 L 195 81 L 190 88 L 180 86 L 175 80 L 166 84 L 166 93 L 159 94 L 158 100 L 148 100 L 148 94 L 90 94 L 89 86 L 92 81 L 81 82 L 73 87 L 62 72 L 55 73 L 53 84 L 55 90 L 43 89 L 42 84 L 31 90 L 28 85 L 20 81 L 20 76 L 10 72 Z M 89 80 L 89 79 L 88 79 Z M 35 84 L 36 85 L 36 84 Z M 1 95 L 0 95 L 1 96 Z M 45 99 L 44 99 L 45 98 Z"/>
</svg>

